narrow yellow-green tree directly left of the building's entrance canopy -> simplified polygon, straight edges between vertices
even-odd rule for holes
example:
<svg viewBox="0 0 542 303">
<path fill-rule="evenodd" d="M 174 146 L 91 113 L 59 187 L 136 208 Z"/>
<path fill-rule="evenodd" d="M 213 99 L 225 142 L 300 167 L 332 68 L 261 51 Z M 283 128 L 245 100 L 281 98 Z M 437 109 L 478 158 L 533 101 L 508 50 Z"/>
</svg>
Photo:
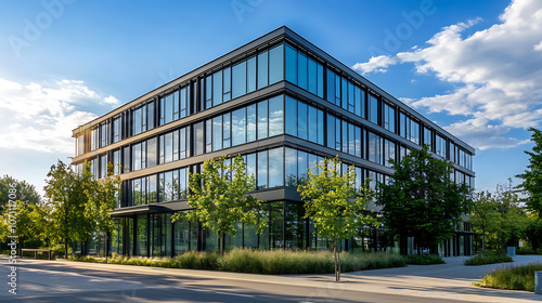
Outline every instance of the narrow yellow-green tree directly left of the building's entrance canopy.
<svg viewBox="0 0 542 303">
<path fill-rule="evenodd" d="M 87 163 L 86 163 L 87 164 Z M 85 189 L 88 203 L 85 214 L 94 224 L 96 232 L 105 236 L 105 262 L 107 262 L 107 235 L 113 232 L 113 218 L 111 212 L 115 209 L 115 203 L 120 190 L 120 177 L 114 176 L 114 166 L 107 163 L 107 177 L 93 180 Z"/>
</svg>

